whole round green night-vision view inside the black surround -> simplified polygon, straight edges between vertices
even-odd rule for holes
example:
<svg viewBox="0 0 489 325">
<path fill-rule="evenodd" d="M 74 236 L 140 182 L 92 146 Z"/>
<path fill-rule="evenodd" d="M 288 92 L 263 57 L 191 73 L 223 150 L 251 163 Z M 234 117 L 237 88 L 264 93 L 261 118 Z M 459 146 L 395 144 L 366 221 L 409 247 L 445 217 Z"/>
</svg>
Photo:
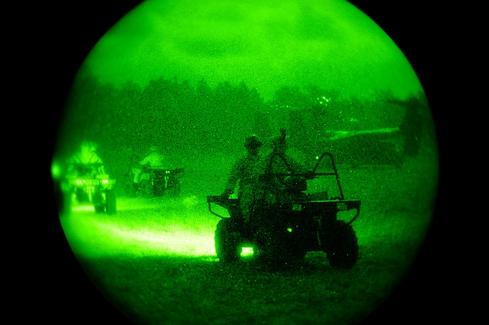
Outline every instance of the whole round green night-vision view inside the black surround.
<svg viewBox="0 0 489 325">
<path fill-rule="evenodd" d="M 146 324 L 358 324 L 437 195 L 415 71 L 344 0 L 148 0 L 80 67 L 51 170 L 93 284 Z"/>
</svg>

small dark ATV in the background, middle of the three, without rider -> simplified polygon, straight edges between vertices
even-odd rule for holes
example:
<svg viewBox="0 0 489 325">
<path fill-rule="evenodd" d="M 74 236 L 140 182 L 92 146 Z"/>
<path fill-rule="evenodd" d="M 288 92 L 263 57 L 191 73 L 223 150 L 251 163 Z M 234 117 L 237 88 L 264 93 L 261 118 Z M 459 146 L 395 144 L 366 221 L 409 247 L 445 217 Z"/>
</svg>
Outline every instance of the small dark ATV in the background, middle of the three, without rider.
<svg viewBox="0 0 489 325">
<path fill-rule="evenodd" d="M 134 173 L 126 174 L 128 182 L 126 192 L 129 196 L 136 196 L 137 193 L 146 197 L 163 196 L 168 193 L 170 196 L 178 196 L 181 191 L 178 177 L 183 173 L 183 168 L 166 169 L 150 168 L 148 166 L 138 167 L 141 170 L 141 180 L 134 183 Z M 134 168 L 132 168 L 134 169 Z"/>
</svg>

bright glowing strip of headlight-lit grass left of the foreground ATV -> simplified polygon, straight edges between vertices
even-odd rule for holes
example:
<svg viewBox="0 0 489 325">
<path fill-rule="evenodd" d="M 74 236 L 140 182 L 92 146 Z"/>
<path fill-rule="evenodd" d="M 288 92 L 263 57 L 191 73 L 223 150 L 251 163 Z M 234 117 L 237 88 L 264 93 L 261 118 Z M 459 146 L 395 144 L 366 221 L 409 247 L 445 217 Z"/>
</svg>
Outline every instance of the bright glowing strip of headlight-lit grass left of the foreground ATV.
<svg viewBox="0 0 489 325">
<path fill-rule="evenodd" d="M 191 204 L 192 206 L 193 204 Z M 178 207 L 178 208 L 177 208 Z M 151 203 L 142 199 L 121 198 L 114 218 L 100 218 L 93 205 L 78 205 L 62 217 L 62 225 L 71 248 L 77 255 L 102 256 L 215 256 L 213 223 L 204 226 L 198 216 L 172 213 L 161 215 L 158 209 L 188 209 L 185 203 Z M 139 213 L 138 210 L 147 210 Z M 205 213 L 205 211 L 204 211 Z M 158 214 L 161 219 L 145 214 Z M 202 215 L 201 219 L 206 216 Z M 187 219 L 202 229 L 192 231 Z M 165 222 L 166 221 L 166 222 Z"/>
</svg>

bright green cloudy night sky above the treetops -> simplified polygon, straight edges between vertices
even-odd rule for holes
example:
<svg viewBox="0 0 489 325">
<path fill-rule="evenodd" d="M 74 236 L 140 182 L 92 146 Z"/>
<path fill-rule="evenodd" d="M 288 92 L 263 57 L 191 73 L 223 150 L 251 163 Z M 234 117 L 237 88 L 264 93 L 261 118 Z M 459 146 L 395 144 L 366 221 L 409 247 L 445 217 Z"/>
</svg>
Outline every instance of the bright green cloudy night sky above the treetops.
<svg viewBox="0 0 489 325">
<path fill-rule="evenodd" d="M 400 99 L 422 90 L 395 43 L 346 1 L 146 1 L 97 43 L 87 70 L 116 86 L 244 82 L 266 100 L 282 85 Z"/>
</svg>

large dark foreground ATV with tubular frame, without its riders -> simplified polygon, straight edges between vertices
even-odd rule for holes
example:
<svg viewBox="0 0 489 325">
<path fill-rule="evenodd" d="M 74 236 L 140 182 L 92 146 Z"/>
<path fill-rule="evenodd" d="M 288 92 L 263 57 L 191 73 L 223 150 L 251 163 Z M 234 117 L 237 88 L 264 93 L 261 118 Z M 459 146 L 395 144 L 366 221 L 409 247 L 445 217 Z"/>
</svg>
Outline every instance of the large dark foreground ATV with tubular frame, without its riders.
<svg viewBox="0 0 489 325">
<path fill-rule="evenodd" d="M 317 172 L 325 157 L 330 158 L 333 171 Z M 287 165 L 281 155 L 274 158 Z M 209 211 L 221 218 L 214 237 L 219 260 L 238 261 L 242 248 L 252 247 L 253 255 L 271 262 L 300 260 L 309 251 L 324 251 L 331 265 L 353 267 L 358 258 L 358 243 L 352 223 L 360 213 L 360 201 L 344 199 L 333 156 L 325 152 L 318 157 L 311 174 L 289 172 L 266 176 L 284 179 L 284 192 L 290 199 L 281 206 L 257 204 L 253 215 L 258 222 L 245 223 L 239 199 L 207 196 Z M 329 197 L 329 191 L 307 193 L 308 180 L 320 176 L 336 178 L 339 196 Z M 214 212 L 212 203 L 226 208 L 230 217 Z M 356 210 L 355 216 L 348 222 L 338 220 L 338 212 L 347 210 Z"/>
</svg>

